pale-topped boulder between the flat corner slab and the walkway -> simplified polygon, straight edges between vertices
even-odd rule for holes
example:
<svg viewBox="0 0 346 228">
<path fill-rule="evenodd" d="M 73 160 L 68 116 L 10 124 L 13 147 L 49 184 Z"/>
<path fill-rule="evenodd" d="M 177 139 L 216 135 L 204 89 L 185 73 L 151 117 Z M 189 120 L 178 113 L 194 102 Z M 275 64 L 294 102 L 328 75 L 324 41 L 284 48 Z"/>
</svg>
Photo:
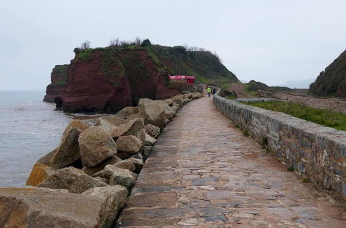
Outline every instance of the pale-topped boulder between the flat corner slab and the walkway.
<svg viewBox="0 0 346 228">
<path fill-rule="evenodd" d="M 127 189 L 121 185 L 97 187 L 84 191 L 82 195 L 92 196 L 102 200 L 100 220 L 102 220 L 104 227 L 111 227 L 120 209 L 125 206 Z"/>
</svg>

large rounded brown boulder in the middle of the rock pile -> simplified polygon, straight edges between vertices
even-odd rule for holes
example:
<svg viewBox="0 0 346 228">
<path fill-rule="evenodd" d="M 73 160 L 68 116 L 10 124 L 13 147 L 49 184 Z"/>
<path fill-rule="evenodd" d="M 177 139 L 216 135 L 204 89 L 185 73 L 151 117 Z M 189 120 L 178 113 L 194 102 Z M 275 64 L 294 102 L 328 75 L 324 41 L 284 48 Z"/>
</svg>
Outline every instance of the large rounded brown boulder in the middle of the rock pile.
<svg viewBox="0 0 346 228">
<path fill-rule="evenodd" d="M 116 143 L 102 126 L 86 129 L 80 134 L 78 142 L 83 167 L 94 167 L 116 155 Z"/>
</svg>

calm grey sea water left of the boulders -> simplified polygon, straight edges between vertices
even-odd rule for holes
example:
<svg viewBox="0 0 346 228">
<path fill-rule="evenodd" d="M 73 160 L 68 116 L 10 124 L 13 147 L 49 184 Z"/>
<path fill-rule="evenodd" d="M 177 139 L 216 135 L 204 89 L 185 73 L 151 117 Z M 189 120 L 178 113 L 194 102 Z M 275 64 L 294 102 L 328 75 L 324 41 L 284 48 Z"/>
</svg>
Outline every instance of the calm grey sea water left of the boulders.
<svg viewBox="0 0 346 228">
<path fill-rule="evenodd" d="M 55 149 L 72 117 L 44 91 L 0 91 L 0 187 L 24 186 L 36 160 Z"/>
</svg>

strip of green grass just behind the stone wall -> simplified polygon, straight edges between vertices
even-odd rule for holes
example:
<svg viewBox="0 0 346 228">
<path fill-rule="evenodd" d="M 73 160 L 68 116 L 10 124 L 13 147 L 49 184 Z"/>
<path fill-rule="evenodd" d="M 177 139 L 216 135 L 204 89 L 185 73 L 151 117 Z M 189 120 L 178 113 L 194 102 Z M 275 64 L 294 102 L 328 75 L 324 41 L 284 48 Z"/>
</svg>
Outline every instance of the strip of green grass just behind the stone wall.
<svg viewBox="0 0 346 228">
<path fill-rule="evenodd" d="M 335 111 L 325 109 L 311 108 L 309 106 L 281 101 L 253 102 L 245 104 L 281 113 L 286 113 L 303 120 L 314 122 L 316 124 L 329 126 L 340 131 L 346 131 L 345 113 L 338 113 Z"/>
</svg>

